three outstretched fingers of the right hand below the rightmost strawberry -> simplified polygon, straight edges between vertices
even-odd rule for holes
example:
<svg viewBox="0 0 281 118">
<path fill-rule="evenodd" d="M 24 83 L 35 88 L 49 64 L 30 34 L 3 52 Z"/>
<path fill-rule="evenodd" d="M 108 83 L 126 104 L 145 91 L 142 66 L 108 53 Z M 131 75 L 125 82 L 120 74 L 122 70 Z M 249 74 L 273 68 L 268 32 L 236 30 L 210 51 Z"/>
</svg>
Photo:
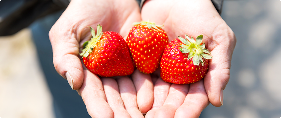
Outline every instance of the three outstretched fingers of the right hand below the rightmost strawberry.
<svg viewBox="0 0 281 118">
<path fill-rule="evenodd" d="M 159 76 L 159 69 L 152 76 L 154 102 L 145 118 L 197 118 L 209 105 L 204 80 L 193 84 L 170 84 Z"/>
</svg>

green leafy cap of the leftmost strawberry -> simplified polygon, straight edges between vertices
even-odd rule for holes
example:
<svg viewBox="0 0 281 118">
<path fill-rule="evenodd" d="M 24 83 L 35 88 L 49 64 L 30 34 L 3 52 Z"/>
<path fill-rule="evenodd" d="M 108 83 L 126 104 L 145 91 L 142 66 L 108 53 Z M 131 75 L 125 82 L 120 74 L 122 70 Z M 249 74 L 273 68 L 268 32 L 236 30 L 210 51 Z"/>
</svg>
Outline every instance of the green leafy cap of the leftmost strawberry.
<svg viewBox="0 0 281 118">
<path fill-rule="evenodd" d="M 92 38 L 91 40 L 83 43 L 82 53 L 80 53 L 80 55 L 83 57 L 88 57 L 89 53 L 91 53 L 93 51 L 93 48 L 96 47 L 96 43 L 101 39 L 101 36 L 103 34 L 100 24 L 97 25 L 96 32 L 92 27 L 89 26 L 89 28 L 91 29 Z"/>
</svg>

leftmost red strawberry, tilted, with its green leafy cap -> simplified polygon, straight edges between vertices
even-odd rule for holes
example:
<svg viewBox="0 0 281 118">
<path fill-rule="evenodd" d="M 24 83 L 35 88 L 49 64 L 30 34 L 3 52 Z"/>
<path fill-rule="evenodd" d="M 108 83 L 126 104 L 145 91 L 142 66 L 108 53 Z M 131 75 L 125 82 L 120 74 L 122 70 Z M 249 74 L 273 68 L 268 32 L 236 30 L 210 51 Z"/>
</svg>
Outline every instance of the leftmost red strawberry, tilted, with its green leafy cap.
<svg viewBox="0 0 281 118">
<path fill-rule="evenodd" d="M 97 26 L 97 34 L 91 28 L 93 37 L 83 44 L 84 49 L 80 55 L 83 55 L 86 68 L 102 77 L 132 74 L 134 65 L 123 37 L 116 32 L 101 31 L 101 25 Z"/>
</svg>

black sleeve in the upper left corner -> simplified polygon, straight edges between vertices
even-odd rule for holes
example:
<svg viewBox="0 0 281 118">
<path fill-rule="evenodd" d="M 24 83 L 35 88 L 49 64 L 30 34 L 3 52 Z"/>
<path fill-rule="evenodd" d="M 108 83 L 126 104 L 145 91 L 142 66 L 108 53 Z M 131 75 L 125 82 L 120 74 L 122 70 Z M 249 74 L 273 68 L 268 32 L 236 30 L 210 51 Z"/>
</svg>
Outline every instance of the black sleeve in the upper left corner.
<svg viewBox="0 0 281 118">
<path fill-rule="evenodd" d="M 0 36 L 12 35 L 33 21 L 63 10 L 68 0 L 1 0 Z"/>
</svg>

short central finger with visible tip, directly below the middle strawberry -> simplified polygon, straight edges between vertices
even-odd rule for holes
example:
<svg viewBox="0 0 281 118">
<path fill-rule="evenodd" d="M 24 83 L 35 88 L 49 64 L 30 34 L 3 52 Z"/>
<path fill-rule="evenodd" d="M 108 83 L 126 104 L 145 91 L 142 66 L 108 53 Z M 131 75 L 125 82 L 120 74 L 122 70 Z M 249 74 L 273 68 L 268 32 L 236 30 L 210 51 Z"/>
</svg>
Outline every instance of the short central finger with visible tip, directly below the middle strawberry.
<svg viewBox="0 0 281 118">
<path fill-rule="evenodd" d="M 137 91 L 137 104 L 142 113 L 150 110 L 153 103 L 153 83 L 149 74 L 135 70 L 132 80 Z"/>
</svg>

